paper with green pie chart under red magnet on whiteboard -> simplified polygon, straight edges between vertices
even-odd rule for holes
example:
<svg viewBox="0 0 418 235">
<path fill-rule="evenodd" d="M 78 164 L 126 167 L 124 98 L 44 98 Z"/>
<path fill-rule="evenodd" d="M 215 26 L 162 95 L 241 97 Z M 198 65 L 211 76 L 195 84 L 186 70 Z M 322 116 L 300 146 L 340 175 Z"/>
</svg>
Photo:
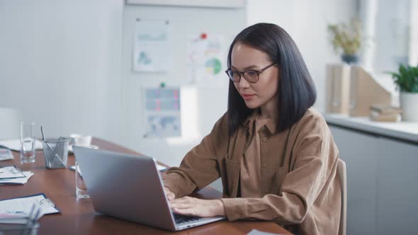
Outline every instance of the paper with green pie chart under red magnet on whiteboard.
<svg viewBox="0 0 418 235">
<path fill-rule="evenodd" d="M 196 86 L 224 86 L 225 58 L 222 35 L 202 33 L 188 35 L 187 67 L 189 84 Z"/>
</svg>

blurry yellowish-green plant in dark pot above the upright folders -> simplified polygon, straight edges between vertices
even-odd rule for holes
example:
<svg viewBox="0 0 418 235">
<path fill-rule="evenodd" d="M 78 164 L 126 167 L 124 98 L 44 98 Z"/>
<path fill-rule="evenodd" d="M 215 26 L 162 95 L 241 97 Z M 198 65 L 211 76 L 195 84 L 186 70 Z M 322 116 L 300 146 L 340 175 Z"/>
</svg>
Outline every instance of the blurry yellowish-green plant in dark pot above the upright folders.
<svg viewBox="0 0 418 235">
<path fill-rule="evenodd" d="M 353 18 L 349 24 L 329 24 L 328 33 L 334 52 L 342 51 L 342 61 L 347 64 L 356 63 L 361 47 L 361 22 Z"/>
</svg>

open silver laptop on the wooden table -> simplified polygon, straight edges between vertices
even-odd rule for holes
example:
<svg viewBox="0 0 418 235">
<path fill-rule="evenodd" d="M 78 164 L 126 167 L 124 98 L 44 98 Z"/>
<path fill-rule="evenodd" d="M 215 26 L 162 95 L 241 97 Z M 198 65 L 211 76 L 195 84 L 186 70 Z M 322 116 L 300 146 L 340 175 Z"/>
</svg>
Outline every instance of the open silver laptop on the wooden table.
<svg viewBox="0 0 418 235">
<path fill-rule="evenodd" d="M 225 219 L 171 212 L 156 161 L 148 156 L 76 146 L 73 150 L 97 212 L 171 231 Z"/>
</svg>

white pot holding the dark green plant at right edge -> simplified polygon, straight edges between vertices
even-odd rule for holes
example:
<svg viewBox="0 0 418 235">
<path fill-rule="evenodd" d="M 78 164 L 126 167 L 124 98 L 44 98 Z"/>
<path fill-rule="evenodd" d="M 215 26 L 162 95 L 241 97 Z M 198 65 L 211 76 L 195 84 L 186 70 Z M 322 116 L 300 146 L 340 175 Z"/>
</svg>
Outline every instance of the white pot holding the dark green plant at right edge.
<svg viewBox="0 0 418 235">
<path fill-rule="evenodd" d="M 401 91 L 400 107 L 403 121 L 418 122 L 418 93 Z"/>
</svg>

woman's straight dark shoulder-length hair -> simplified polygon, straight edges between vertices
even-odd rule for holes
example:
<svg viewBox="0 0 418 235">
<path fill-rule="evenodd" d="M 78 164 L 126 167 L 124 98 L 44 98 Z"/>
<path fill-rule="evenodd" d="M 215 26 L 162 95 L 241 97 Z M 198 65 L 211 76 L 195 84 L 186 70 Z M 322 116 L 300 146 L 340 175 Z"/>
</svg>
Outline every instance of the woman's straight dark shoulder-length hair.
<svg viewBox="0 0 418 235">
<path fill-rule="evenodd" d="M 288 129 L 303 117 L 317 97 L 315 84 L 298 47 L 290 35 L 278 25 L 257 23 L 245 28 L 235 37 L 228 52 L 228 68 L 231 68 L 232 48 L 237 42 L 266 53 L 271 62 L 276 63 L 279 71 L 276 131 Z M 243 124 L 252 111 L 245 105 L 234 83 L 230 81 L 227 110 L 230 136 L 237 131 L 239 125 Z"/>
</svg>

